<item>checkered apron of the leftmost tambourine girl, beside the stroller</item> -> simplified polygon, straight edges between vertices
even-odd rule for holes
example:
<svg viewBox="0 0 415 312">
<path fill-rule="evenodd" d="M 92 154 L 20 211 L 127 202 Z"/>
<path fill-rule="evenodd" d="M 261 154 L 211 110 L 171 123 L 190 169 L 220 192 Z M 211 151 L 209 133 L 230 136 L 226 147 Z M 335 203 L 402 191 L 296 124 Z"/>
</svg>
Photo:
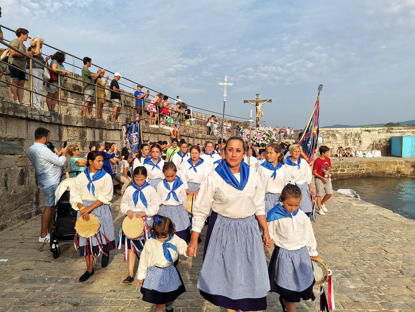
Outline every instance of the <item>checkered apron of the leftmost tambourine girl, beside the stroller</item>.
<svg viewBox="0 0 415 312">
<path fill-rule="evenodd" d="M 92 205 L 93 203 L 95 203 L 95 201 L 82 201 L 82 203 L 83 203 L 83 206 L 88 207 Z M 112 220 L 110 205 L 108 204 L 101 205 L 97 208 L 94 208 L 90 213 L 93 213 L 94 215 L 96 215 L 98 220 L 100 220 L 100 223 L 101 223 L 100 231 L 103 235 L 105 235 L 107 240 L 110 241 L 110 243 L 108 243 L 107 240 L 103 238 L 101 233 L 98 232 L 97 237 L 98 237 L 98 240 L 101 246 L 103 246 L 103 250 L 105 251 L 113 250 L 115 248 L 115 232 L 114 232 L 114 221 Z M 80 211 L 78 211 L 78 215 L 77 215 L 77 218 L 79 217 L 80 217 Z M 94 253 L 98 255 L 99 247 L 98 247 L 97 238 L 93 236 L 89 239 L 90 239 L 90 242 L 92 243 L 92 249 Z M 81 237 L 81 236 L 78 237 L 79 253 L 81 256 L 85 256 L 87 254 L 85 250 L 86 241 L 87 241 L 86 238 Z"/>
</svg>

